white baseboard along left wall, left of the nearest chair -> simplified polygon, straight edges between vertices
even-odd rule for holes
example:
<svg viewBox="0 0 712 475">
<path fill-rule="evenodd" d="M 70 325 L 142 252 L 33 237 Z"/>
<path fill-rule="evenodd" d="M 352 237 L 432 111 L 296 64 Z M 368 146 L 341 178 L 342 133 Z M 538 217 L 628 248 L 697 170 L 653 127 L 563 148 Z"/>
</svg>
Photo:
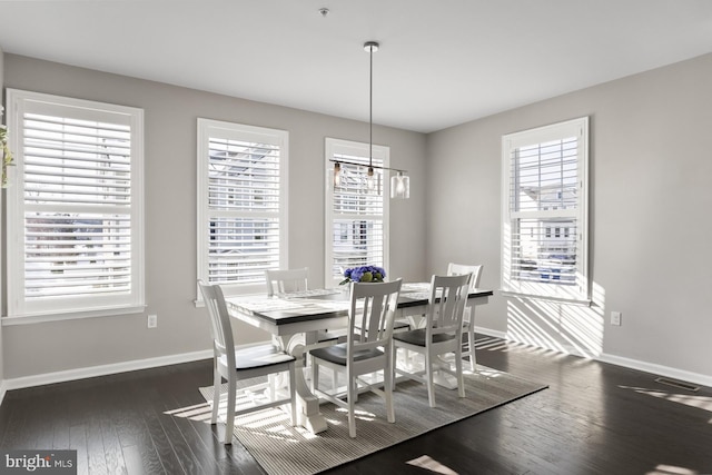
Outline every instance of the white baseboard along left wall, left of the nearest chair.
<svg viewBox="0 0 712 475">
<path fill-rule="evenodd" d="M 69 380 L 91 378 L 96 376 L 107 376 L 117 373 L 134 372 L 137 369 L 148 369 L 159 366 L 176 365 L 179 363 L 197 362 L 199 359 L 212 358 L 212 350 L 184 353 L 180 355 L 159 356 L 157 358 L 135 359 L 132 362 L 115 363 L 111 365 L 90 366 L 85 368 L 69 369 L 57 373 L 46 373 L 41 375 L 23 376 L 0 382 L 0 396 L 11 389 L 42 386 L 46 384 L 65 383 Z M 0 404 L 2 399 L 0 398 Z"/>
</svg>

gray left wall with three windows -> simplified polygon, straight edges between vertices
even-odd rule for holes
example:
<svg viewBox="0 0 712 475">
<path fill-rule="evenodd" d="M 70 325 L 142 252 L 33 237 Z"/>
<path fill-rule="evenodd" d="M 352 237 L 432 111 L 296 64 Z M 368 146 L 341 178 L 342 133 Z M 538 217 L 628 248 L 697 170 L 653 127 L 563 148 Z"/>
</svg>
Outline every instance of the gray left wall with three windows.
<svg viewBox="0 0 712 475">
<path fill-rule="evenodd" d="M 367 123 L 13 55 L 4 56 L 4 72 L 8 88 L 145 110 L 148 303 L 141 315 L 3 327 L 6 378 L 210 348 L 205 309 L 194 305 L 198 117 L 289 131 L 289 266 L 308 266 L 313 284 L 324 285 L 324 139 L 367 142 Z M 374 142 L 388 145 L 392 165 L 412 175 L 412 199 L 390 207 L 389 274 L 422 279 L 425 136 L 376 126 Z M 158 315 L 156 329 L 146 328 L 149 313 Z M 246 325 L 236 331 L 243 342 L 268 338 Z"/>
</svg>

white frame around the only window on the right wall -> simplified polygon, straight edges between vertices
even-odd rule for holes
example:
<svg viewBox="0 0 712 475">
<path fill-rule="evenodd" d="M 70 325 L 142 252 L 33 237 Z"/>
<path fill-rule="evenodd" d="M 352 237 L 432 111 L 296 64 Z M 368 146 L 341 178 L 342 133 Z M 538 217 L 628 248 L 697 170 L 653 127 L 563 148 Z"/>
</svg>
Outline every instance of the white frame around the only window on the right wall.
<svg viewBox="0 0 712 475">
<path fill-rule="evenodd" d="M 502 226 L 501 226 L 501 259 L 502 259 L 502 279 L 501 288 L 505 296 L 526 296 L 543 299 L 564 300 L 575 304 L 591 304 L 591 286 L 589 276 L 589 117 L 566 120 L 550 126 L 537 127 L 514 133 L 507 133 L 502 137 Z M 547 210 L 542 211 L 513 211 L 511 209 L 511 189 L 513 188 L 514 177 L 512 176 L 512 162 L 514 151 L 535 145 L 542 145 L 550 141 L 564 140 L 566 138 L 576 137 L 576 208 L 568 210 Z M 547 236 L 554 236 L 561 227 L 565 227 L 565 234 L 568 235 L 567 222 L 556 222 L 555 218 L 575 220 L 575 279 L 574 285 L 562 285 L 553 279 L 551 281 L 524 281 L 514 276 L 513 269 L 513 250 L 512 250 L 512 222 L 514 219 L 532 219 L 538 220 L 546 226 Z M 546 219 L 554 220 L 548 224 Z M 553 229 L 552 229 L 553 228 Z M 573 231 L 573 229 L 572 229 Z M 540 279 L 543 280 L 543 279 Z"/>
</svg>

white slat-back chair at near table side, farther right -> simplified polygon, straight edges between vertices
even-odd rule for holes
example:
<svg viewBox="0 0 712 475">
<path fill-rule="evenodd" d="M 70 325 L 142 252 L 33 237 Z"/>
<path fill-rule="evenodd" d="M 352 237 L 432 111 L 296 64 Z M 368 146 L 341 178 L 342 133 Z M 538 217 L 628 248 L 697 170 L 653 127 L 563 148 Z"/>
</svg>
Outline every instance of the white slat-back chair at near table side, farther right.
<svg viewBox="0 0 712 475">
<path fill-rule="evenodd" d="M 424 369 L 395 368 L 398 376 L 424 383 L 427 386 L 427 398 L 431 407 L 435 407 L 435 386 L 433 374 L 443 370 L 457 379 L 457 395 L 465 397 L 463 378 L 462 335 L 463 313 L 469 291 L 472 274 L 459 276 L 433 276 L 431 296 L 425 315 L 425 328 L 402 331 L 393 335 L 393 360 L 397 358 L 398 348 L 424 356 Z M 455 355 L 455 370 L 439 357 Z M 411 357 L 412 358 L 412 357 Z"/>
</svg>

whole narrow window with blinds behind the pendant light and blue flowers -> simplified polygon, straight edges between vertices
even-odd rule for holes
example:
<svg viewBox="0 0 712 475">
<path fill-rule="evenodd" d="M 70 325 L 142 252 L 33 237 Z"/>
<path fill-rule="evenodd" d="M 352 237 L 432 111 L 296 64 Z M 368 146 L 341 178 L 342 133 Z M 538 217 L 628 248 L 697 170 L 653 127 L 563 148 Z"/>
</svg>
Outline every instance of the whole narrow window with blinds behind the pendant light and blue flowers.
<svg viewBox="0 0 712 475">
<path fill-rule="evenodd" d="M 329 284 L 344 279 L 344 269 L 374 265 L 388 269 L 389 180 L 375 169 L 375 189 L 366 184 L 368 144 L 326 139 L 326 279 Z M 388 147 L 373 146 L 373 162 L 388 166 Z M 340 164 L 342 180 L 333 185 L 334 160 Z"/>
</svg>

